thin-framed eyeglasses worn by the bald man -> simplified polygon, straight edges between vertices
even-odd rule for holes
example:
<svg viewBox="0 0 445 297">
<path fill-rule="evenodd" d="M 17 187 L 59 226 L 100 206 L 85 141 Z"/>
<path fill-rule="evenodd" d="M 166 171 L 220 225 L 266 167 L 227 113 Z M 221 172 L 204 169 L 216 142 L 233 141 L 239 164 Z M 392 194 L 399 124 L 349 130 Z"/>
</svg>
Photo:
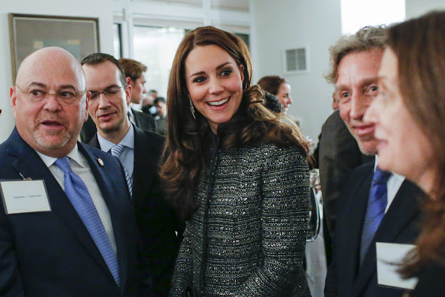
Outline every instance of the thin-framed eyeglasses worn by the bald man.
<svg viewBox="0 0 445 297">
<path fill-rule="evenodd" d="M 29 99 L 29 101 L 36 103 L 42 102 L 44 99 L 49 97 L 49 95 L 54 95 L 54 97 L 61 100 L 65 104 L 73 104 L 86 93 L 86 90 L 79 93 L 72 89 L 60 90 L 56 93 L 49 93 L 40 86 L 31 86 L 31 88 L 29 88 L 28 90 L 22 90 L 19 85 L 15 85 L 15 87 L 17 88 L 17 90 L 20 91 L 20 93 L 26 96 L 26 99 Z"/>
</svg>

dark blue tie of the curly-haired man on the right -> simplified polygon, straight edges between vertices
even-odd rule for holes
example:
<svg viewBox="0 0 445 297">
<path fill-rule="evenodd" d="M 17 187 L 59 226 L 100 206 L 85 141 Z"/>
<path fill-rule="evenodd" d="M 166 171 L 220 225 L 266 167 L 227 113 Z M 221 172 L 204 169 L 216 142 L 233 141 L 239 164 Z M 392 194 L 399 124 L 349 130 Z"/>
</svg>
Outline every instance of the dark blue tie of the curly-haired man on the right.
<svg viewBox="0 0 445 297">
<path fill-rule="evenodd" d="M 391 176 L 391 172 L 375 169 L 371 189 L 369 190 L 368 207 L 366 208 L 366 216 L 364 218 L 362 242 L 360 246 L 360 264 L 362 264 L 364 256 L 368 251 L 374 234 L 385 216 L 385 209 L 388 203 L 387 181 Z"/>
</svg>

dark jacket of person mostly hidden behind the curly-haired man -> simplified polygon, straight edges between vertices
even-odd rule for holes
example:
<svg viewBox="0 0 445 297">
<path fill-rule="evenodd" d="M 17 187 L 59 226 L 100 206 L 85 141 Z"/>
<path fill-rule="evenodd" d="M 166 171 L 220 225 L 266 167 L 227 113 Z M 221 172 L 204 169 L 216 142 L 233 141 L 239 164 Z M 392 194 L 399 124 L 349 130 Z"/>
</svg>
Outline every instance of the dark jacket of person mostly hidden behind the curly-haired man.
<svg viewBox="0 0 445 297">
<path fill-rule="evenodd" d="M 351 170 L 374 161 L 374 156 L 365 156 L 360 152 L 357 141 L 341 120 L 339 111 L 334 111 L 327 118 L 321 129 L 319 144 L 318 168 L 323 192 L 323 210 L 327 230 L 333 238 L 341 186 Z"/>
</svg>

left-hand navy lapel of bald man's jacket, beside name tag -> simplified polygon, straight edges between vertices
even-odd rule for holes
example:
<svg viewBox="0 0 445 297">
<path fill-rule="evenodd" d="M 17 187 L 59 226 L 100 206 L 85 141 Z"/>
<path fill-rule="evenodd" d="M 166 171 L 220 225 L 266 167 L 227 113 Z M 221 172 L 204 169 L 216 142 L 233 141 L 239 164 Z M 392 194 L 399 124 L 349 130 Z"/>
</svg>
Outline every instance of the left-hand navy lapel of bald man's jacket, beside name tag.
<svg viewBox="0 0 445 297">
<path fill-rule="evenodd" d="M 91 257 L 106 269 L 110 277 L 113 278 L 90 233 L 85 225 L 83 225 L 79 214 L 77 214 L 67 195 L 65 195 L 65 192 L 35 150 L 18 136 L 18 138 L 11 143 L 8 154 L 17 158 L 13 163 L 13 167 L 17 172 L 22 173 L 24 177 L 44 179 L 49 202 L 51 203 L 51 212 L 60 218 L 65 226 L 74 234 L 76 239 L 78 239 L 79 243 L 90 253 Z"/>
</svg>

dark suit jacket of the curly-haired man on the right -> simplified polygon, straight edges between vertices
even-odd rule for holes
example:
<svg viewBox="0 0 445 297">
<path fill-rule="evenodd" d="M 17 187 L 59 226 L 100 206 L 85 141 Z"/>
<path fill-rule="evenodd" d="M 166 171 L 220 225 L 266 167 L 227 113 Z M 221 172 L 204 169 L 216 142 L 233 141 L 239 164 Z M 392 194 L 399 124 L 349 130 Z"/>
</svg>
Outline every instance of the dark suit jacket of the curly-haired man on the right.
<svg viewBox="0 0 445 297">
<path fill-rule="evenodd" d="M 419 234 L 419 199 L 423 192 L 405 180 L 375 233 L 359 267 L 359 250 L 374 162 L 351 172 L 339 198 L 332 264 L 327 268 L 325 296 L 402 296 L 401 289 L 377 284 L 375 242 L 413 243 Z"/>
</svg>

